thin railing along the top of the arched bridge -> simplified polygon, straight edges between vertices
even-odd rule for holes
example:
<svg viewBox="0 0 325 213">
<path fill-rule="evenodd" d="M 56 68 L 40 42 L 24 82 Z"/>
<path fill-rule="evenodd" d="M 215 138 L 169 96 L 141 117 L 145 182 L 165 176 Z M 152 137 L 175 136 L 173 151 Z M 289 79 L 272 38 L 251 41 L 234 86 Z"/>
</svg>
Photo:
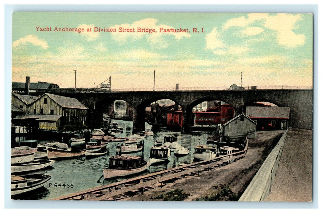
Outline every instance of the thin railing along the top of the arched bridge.
<svg viewBox="0 0 325 213">
<path fill-rule="evenodd" d="M 258 90 L 258 89 L 313 89 L 312 86 L 245 86 L 237 88 L 229 87 L 183 87 L 183 88 L 155 88 L 154 91 L 208 91 L 208 90 Z M 82 93 L 82 92 L 146 92 L 153 91 L 153 88 L 124 88 L 124 89 L 104 89 L 104 88 L 53 88 L 48 92 L 54 93 Z"/>
</svg>

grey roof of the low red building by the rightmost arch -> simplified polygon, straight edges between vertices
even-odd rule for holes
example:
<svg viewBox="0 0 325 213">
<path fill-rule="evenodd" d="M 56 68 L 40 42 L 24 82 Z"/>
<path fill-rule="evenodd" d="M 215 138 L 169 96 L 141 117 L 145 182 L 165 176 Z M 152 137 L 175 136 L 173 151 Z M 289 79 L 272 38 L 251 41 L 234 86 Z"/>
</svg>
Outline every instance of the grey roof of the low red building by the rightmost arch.
<svg viewBox="0 0 325 213">
<path fill-rule="evenodd" d="M 289 119 L 289 107 L 247 106 L 246 115 L 250 118 L 282 118 Z"/>
</svg>

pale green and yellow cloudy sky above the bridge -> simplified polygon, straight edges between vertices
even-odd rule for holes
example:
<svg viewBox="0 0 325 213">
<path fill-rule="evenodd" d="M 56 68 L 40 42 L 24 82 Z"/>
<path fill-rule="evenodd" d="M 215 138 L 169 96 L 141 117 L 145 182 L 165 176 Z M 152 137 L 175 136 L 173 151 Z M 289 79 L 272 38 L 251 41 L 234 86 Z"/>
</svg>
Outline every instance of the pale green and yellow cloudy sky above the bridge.
<svg viewBox="0 0 325 213">
<path fill-rule="evenodd" d="M 30 76 L 74 87 L 77 70 L 77 87 L 111 76 L 112 89 L 153 88 L 156 70 L 156 88 L 240 86 L 241 72 L 243 86 L 312 86 L 312 20 L 285 13 L 14 12 L 12 81 Z M 40 31 L 46 27 L 51 31 Z"/>
</svg>

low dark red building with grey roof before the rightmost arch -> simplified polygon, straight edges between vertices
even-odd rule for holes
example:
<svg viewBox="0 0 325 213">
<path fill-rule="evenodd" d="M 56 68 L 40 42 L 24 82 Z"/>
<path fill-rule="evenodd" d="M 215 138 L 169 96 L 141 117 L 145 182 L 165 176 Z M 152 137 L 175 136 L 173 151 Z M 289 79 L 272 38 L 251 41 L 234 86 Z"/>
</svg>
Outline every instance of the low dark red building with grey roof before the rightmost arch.
<svg viewBox="0 0 325 213">
<path fill-rule="evenodd" d="M 285 130 L 290 117 L 289 107 L 247 106 L 246 115 L 256 125 L 256 130 Z"/>
</svg>

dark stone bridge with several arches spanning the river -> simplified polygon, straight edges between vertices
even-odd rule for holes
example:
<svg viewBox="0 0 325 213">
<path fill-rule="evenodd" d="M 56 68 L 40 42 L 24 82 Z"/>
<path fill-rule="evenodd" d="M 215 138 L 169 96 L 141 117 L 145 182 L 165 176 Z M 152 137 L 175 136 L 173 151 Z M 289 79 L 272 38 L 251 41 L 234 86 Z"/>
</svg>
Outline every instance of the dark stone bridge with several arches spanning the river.
<svg viewBox="0 0 325 213">
<path fill-rule="evenodd" d="M 267 101 L 278 106 L 290 107 L 289 126 L 303 129 L 313 127 L 313 90 L 312 89 L 251 89 L 251 90 L 197 90 L 197 91 L 48 91 L 53 94 L 78 99 L 90 111 L 88 125 L 99 127 L 102 124 L 105 107 L 116 100 L 128 102 L 134 108 L 133 131 L 144 130 L 145 108 L 152 102 L 170 99 L 183 110 L 182 133 L 191 131 L 191 109 L 207 100 L 225 101 L 235 108 L 236 115 L 242 113 L 244 104 Z"/>
</svg>

